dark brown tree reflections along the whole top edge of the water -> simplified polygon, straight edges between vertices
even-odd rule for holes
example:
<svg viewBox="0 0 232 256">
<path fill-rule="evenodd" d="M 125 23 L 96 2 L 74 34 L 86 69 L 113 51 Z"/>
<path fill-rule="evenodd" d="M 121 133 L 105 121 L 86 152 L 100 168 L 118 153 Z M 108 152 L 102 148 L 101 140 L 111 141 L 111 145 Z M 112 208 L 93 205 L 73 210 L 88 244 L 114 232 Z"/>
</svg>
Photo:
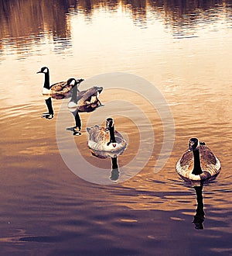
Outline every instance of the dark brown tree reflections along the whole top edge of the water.
<svg viewBox="0 0 232 256">
<path fill-rule="evenodd" d="M 71 46 L 70 13 L 83 15 L 88 19 L 95 10 L 105 9 L 107 12 L 130 13 L 136 26 L 147 27 L 147 23 L 155 17 L 162 19 L 167 26 L 172 26 L 173 33 L 182 35 L 183 27 L 193 29 L 202 16 L 208 20 L 217 19 L 220 13 L 213 12 L 215 5 L 231 13 L 230 1 L 102 1 L 102 0 L 66 0 L 66 1 L 0 1 L 0 49 L 14 44 L 19 53 L 29 50 L 31 44 L 53 40 L 61 44 L 61 48 Z M 204 19 L 205 21 L 205 19 Z M 56 50 L 59 50 L 59 45 Z"/>
</svg>

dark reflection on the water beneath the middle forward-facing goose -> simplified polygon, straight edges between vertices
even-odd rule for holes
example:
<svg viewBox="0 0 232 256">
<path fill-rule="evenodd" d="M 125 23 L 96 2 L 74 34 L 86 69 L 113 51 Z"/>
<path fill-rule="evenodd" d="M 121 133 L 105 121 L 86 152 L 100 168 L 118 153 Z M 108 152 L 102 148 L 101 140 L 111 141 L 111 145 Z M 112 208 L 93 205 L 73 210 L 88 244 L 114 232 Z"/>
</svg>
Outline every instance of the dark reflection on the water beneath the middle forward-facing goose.
<svg viewBox="0 0 232 256">
<path fill-rule="evenodd" d="M 112 182 L 117 182 L 120 176 L 120 171 L 118 167 L 118 156 L 123 154 L 124 150 L 121 150 L 121 152 L 118 152 L 118 154 L 93 149 L 90 149 L 90 152 L 94 157 L 100 159 L 111 158 L 111 176 L 109 178 Z"/>
</svg>

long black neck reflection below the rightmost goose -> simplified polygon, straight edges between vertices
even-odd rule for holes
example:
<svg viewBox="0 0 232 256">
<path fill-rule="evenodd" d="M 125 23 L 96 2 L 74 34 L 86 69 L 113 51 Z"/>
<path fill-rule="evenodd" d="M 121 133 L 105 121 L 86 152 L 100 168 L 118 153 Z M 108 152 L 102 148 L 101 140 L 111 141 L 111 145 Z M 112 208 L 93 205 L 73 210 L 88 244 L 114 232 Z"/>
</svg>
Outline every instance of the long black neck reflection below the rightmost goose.
<svg viewBox="0 0 232 256">
<path fill-rule="evenodd" d="M 200 185 L 194 185 L 193 187 L 196 192 L 196 214 L 193 218 L 193 222 L 195 224 L 196 230 L 203 230 L 203 222 L 205 220 L 205 212 L 203 205 L 203 183 Z"/>
</svg>

